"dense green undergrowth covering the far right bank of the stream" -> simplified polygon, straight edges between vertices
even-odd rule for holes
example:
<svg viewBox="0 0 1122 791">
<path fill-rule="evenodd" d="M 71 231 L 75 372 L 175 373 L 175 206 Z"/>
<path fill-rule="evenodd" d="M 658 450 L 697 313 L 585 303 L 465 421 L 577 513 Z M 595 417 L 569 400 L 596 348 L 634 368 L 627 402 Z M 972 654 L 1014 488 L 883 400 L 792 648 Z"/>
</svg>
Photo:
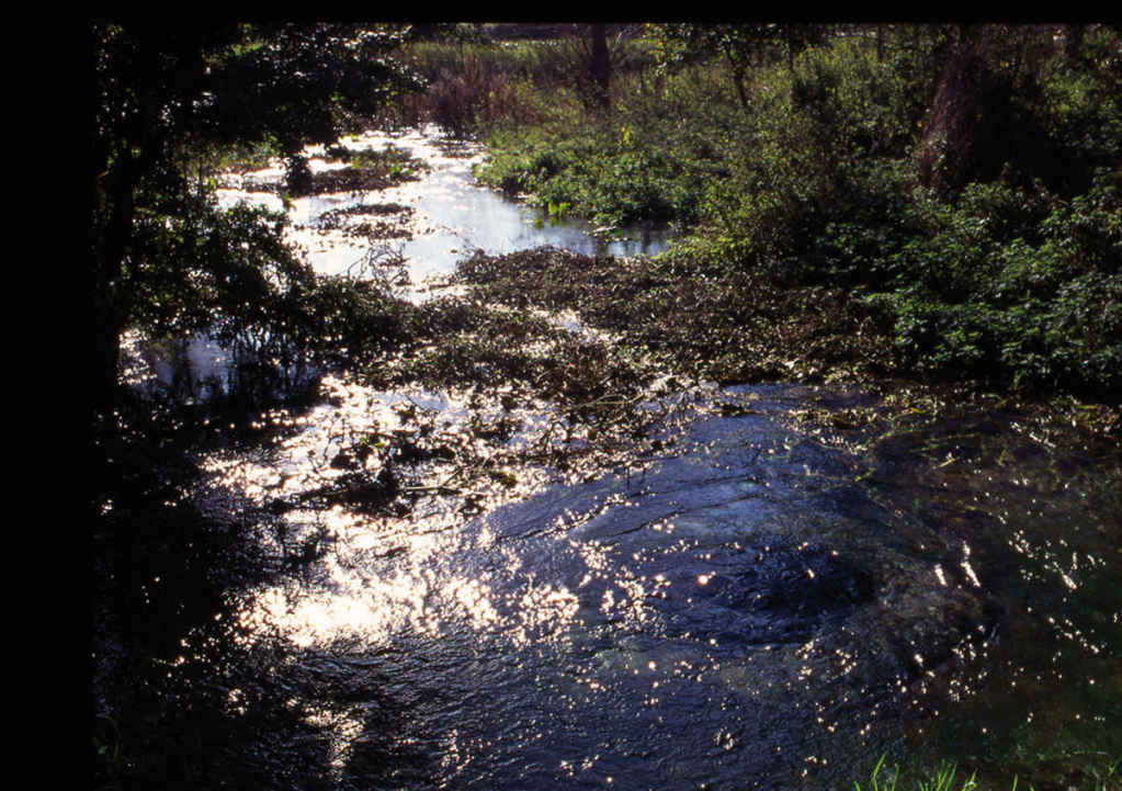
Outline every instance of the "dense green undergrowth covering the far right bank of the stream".
<svg viewBox="0 0 1122 791">
<path fill-rule="evenodd" d="M 935 28 L 898 30 L 880 54 L 866 31 L 790 59 L 761 55 L 744 104 L 716 56 L 653 65 L 665 43 L 649 31 L 629 50 L 649 57 L 623 59 L 610 109 L 597 112 L 571 82 L 539 88 L 528 54 L 513 68 L 511 47 L 461 47 L 476 88 L 457 94 L 438 79 L 433 117 L 456 104 L 449 128 L 472 129 L 491 153 L 479 176 L 551 214 L 682 229 L 654 265 L 657 288 L 778 296 L 793 323 L 818 323 L 819 300 L 803 295 L 826 293 L 847 316 L 837 342 L 855 324 L 875 332 L 867 361 L 896 375 L 1116 404 L 1118 31 L 1093 28 L 1077 54 L 1028 28 L 990 35 L 971 139 L 944 139 L 934 165 L 927 127 L 938 123 L 941 53 L 957 40 Z M 499 82 L 506 110 L 473 103 Z M 695 315 L 703 332 L 710 316 Z M 714 333 L 736 325 L 721 315 Z M 829 347 L 807 349 L 803 367 L 836 357 Z M 742 348 L 745 369 L 758 366 L 758 349 Z"/>
</svg>

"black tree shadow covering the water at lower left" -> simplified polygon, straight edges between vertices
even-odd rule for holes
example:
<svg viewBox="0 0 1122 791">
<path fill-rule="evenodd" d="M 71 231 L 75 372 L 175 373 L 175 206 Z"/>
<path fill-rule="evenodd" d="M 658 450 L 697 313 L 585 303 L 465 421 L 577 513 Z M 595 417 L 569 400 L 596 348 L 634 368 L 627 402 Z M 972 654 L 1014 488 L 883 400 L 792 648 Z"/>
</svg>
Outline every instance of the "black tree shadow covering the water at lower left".
<svg viewBox="0 0 1122 791">
<path fill-rule="evenodd" d="M 197 468 L 202 448 L 280 431 L 263 411 L 298 414 L 315 379 L 242 365 L 208 380 L 184 343 L 171 360 L 166 380 L 122 388 L 86 470 L 93 787 L 337 789 L 323 712 L 346 701 L 286 642 L 250 644 L 238 622 L 245 590 L 291 579 L 292 559 L 323 546 L 265 552 L 260 535 L 280 535 L 276 515 L 201 489 Z M 387 715 L 377 727 L 395 726 Z"/>
</svg>

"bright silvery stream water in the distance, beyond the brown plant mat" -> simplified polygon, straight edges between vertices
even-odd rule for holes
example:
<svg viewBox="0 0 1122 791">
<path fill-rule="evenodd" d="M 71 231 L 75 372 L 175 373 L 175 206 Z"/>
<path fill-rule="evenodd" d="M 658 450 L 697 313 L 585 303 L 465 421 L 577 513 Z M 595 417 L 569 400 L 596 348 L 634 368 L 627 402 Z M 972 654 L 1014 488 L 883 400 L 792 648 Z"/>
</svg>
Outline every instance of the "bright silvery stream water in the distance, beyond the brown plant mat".
<svg viewBox="0 0 1122 791">
<path fill-rule="evenodd" d="M 581 220 L 552 220 L 542 212 L 476 183 L 471 168 L 481 160 L 478 146 L 442 139 L 433 129 L 396 135 L 374 132 L 342 141 L 356 153 L 388 146 L 424 162 L 416 180 L 380 192 L 344 192 L 297 197 L 287 205 L 276 185 L 284 177 L 279 164 L 233 180 L 218 191 L 220 205 L 247 201 L 285 212 L 292 223 L 289 241 L 303 250 L 321 275 L 361 274 L 371 261 L 401 259 L 410 283 L 398 289 L 404 298 L 425 298 L 432 283 L 448 276 L 475 250 L 503 255 L 552 246 L 583 255 L 654 255 L 666 248 L 670 232 L 660 228 L 626 228 L 596 234 Z M 342 169 L 349 163 L 329 163 L 323 148 L 311 148 L 313 173 Z M 381 240 L 348 232 L 346 223 L 325 223 L 333 212 L 371 204 L 398 208 L 395 228 Z M 132 376 L 153 388 L 180 397 L 205 399 L 230 388 L 236 360 L 228 348 L 206 337 L 181 339 L 174 348 L 138 344 Z"/>
</svg>

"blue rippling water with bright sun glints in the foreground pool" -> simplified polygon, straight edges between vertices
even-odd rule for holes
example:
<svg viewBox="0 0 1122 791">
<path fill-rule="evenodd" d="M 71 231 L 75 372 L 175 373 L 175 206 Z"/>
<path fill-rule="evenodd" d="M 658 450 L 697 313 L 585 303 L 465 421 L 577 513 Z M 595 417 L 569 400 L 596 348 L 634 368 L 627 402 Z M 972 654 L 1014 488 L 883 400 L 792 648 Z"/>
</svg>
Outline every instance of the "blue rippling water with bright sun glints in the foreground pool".
<svg viewBox="0 0 1122 791">
<path fill-rule="evenodd" d="M 342 771 L 377 774 L 404 751 L 416 788 L 849 780 L 867 771 L 855 755 L 987 695 L 983 669 L 1012 655 L 1001 637 L 1040 637 L 994 542 L 967 533 L 992 521 L 932 519 L 899 500 L 907 487 L 856 484 L 844 447 L 792 433 L 789 403 L 764 395 L 752 414 L 698 420 L 642 475 L 431 532 L 352 522 L 371 540 L 338 546 L 270 615 L 330 622 L 292 632 L 325 655 L 349 629 L 343 655 L 408 701 L 390 742 L 371 738 L 384 723 L 368 714 Z M 387 532 L 398 551 L 379 551 Z M 1104 565 L 1061 557 L 1043 567 L 1068 594 L 1065 578 L 1078 588 Z"/>
</svg>

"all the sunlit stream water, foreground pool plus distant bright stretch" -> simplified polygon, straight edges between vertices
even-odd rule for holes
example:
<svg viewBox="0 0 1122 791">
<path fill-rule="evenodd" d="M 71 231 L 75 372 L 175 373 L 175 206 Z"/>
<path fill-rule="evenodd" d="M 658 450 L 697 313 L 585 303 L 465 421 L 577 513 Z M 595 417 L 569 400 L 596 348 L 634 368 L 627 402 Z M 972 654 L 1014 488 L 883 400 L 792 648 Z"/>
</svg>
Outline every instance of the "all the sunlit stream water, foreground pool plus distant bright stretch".
<svg viewBox="0 0 1122 791">
<path fill-rule="evenodd" d="M 414 283 L 473 248 L 663 243 L 605 249 L 471 184 L 470 158 L 394 144 L 433 165 L 377 196 L 427 229 L 402 242 Z M 366 255 L 314 229 L 353 200 L 293 209 L 321 272 Z M 214 486 L 298 487 L 405 399 L 463 416 L 452 394 L 334 386 L 285 442 L 212 459 Z M 304 705 L 335 780 L 361 788 L 852 788 L 882 753 L 1122 755 L 1118 470 L 1012 415 L 873 443 L 800 430 L 808 407 L 889 412 L 837 388 L 711 388 L 665 426 L 673 452 L 563 484 L 527 469 L 481 516 L 435 496 L 401 519 L 294 513 L 331 549 L 250 591 L 245 623 L 337 691 Z"/>
</svg>

